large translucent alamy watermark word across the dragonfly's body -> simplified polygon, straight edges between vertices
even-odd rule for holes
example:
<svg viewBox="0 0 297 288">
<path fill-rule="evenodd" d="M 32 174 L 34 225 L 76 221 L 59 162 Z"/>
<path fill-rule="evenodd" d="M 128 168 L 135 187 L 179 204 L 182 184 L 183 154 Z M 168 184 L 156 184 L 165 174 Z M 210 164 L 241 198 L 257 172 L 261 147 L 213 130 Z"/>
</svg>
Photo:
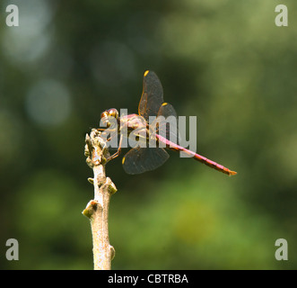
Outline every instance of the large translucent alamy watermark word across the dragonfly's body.
<svg viewBox="0 0 297 288">
<path fill-rule="evenodd" d="M 121 138 L 121 148 L 188 148 L 196 153 L 197 150 L 197 116 L 188 118 L 187 139 L 187 117 L 149 116 L 144 117 L 137 114 L 127 115 L 127 109 L 120 110 L 120 117 L 102 117 L 100 127 L 106 127 L 102 137 L 109 139 L 107 146 L 118 148 L 118 137 Z M 179 150 L 180 157 L 193 157 Z"/>
</svg>

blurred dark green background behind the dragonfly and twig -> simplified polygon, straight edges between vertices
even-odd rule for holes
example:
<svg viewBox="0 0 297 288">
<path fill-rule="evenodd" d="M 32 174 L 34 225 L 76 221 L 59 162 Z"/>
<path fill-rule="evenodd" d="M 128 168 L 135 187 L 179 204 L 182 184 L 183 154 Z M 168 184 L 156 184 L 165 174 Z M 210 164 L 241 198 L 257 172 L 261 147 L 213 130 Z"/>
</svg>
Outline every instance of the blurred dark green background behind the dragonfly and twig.
<svg viewBox="0 0 297 288">
<path fill-rule="evenodd" d="M 0 15 L 1 268 L 92 269 L 84 136 L 105 109 L 137 112 L 146 69 L 179 115 L 197 115 L 197 152 L 238 175 L 174 152 L 144 175 L 110 162 L 112 268 L 297 267 L 296 1 L 13 0 Z"/>
</svg>

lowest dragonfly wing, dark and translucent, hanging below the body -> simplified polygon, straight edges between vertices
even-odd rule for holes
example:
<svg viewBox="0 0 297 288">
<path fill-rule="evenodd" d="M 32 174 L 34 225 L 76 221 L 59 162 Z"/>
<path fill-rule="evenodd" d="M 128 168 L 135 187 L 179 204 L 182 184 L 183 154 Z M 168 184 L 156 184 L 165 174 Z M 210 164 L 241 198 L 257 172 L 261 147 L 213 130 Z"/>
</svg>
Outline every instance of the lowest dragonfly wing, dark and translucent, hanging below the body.
<svg viewBox="0 0 297 288">
<path fill-rule="evenodd" d="M 127 174 L 141 174 L 162 166 L 169 158 L 163 148 L 132 148 L 123 157 L 123 167 Z"/>
</svg>

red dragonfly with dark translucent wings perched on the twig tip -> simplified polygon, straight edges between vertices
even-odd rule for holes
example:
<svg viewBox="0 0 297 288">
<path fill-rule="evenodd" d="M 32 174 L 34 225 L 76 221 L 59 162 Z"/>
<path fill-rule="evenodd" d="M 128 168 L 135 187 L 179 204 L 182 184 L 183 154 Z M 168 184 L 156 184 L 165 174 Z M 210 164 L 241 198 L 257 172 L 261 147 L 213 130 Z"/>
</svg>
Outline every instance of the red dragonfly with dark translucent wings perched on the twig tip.
<svg viewBox="0 0 297 288">
<path fill-rule="evenodd" d="M 163 89 L 162 84 L 153 71 L 145 71 L 144 72 L 144 87 L 143 94 L 138 106 L 138 114 L 129 114 L 125 116 L 119 116 L 118 110 L 115 108 L 111 108 L 101 113 L 101 121 L 105 123 L 106 127 L 110 126 L 109 119 L 117 120 L 117 128 L 116 133 L 120 135 L 118 142 L 118 151 L 109 157 L 108 160 L 118 157 L 121 152 L 122 140 L 123 140 L 123 130 L 127 131 L 127 135 L 129 136 L 133 131 L 137 130 L 138 132 L 143 130 L 144 135 L 150 135 L 156 143 L 162 143 L 163 147 L 169 148 L 175 151 L 182 151 L 186 153 L 189 157 L 193 157 L 199 162 L 204 163 L 207 166 L 210 166 L 218 171 L 223 172 L 227 175 L 236 175 L 235 171 L 231 171 L 230 169 L 206 158 L 203 157 L 187 148 L 183 148 L 179 146 L 177 143 L 170 141 L 172 139 L 167 136 L 171 133 L 171 130 L 168 130 L 167 124 L 165 128 L 162 128 L 162 125 L 157 126 L 156 128 L 152 128 L 149 125 L 149 117 L 150 116 L 164 116 L 165 118 L 169 116 L 174 116 L 177 119 L 177 114 L 170 105 L 170 103 L 163 102 Z M 166 130 L 166 138 L 163 137 L 162 133 L 160 133 L 161 129 Z M 106 130 L 106 129 L 98 129 L 98 130 Z M 152 133 L 153 131 L 153 133 Z M 140 134 L 140 133 L 139 133 Z M 176 137 L 176 135 L 173 135 Z M 145 137 L 148 142 L 150 139 L 148 136 Z M 160 145 L 159 145 L 160 146 Z M 144 147 L 135 147 L 130 149 L 127 154 L 123 157 L 122 164 L 124 170 L 127 174 L 141 174 L 146 171 L 151 171 L 162 164 L 169 158 L 169 154 L 166 152 L 164 148 L 158 147 L 155 148 L 144 148 Z"/>
</svg>

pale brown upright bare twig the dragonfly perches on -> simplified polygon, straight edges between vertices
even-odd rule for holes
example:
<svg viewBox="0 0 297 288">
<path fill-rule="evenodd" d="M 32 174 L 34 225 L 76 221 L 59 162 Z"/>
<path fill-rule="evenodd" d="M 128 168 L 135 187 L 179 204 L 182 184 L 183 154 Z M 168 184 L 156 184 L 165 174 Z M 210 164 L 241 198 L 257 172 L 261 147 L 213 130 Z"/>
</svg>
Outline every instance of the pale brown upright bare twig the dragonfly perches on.
<svg viewBox="0 0 297 288">
<path fill-rule="evenodd" d="M 94 270 L 110 270 L 115 249 L 109 244 L 109 199 L 117 188 L 105 175 L 106 159 L 109 157 L 106 139 L 93 129 L 90 136 L 86 135 L 85 142 L 84 155 L 94 174 L 88 179 L 94 185 L 94 199 L 88 202 L 83 215 L 91 222 Z"/>
</svg>

